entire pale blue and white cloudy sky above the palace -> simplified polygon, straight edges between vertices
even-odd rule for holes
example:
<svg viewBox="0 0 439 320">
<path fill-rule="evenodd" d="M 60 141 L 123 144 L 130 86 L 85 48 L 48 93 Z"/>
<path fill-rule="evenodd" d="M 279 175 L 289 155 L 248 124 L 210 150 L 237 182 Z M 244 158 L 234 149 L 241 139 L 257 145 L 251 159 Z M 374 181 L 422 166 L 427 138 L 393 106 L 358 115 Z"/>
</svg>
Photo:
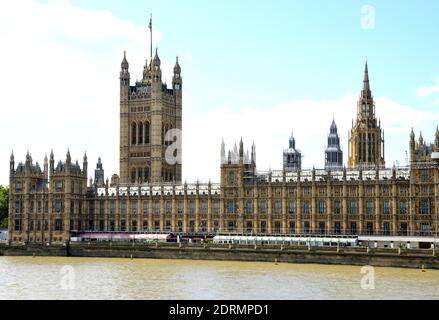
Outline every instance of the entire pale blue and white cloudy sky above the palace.
<svg viewBox="0 0 439 320">
<path fill-rule="evenodd" d="M 303 166 L 324 166 L 334 118 L 344 162 L 367 59 L 387 166 L 406 165 L 409 134 L 439 125 L 439 2 L 78 0 L 0 2 L 0 185 L 9 157 L 119 172 L 119 71 L 132 84 L 153 42 L 171 83 L 183 76 L 183 179 L 219 181 L 220 144 L 257 147 L 282 168 L 292 132 Z M 93 172 L 89 172 L 89 176 Z"/>
</svg>

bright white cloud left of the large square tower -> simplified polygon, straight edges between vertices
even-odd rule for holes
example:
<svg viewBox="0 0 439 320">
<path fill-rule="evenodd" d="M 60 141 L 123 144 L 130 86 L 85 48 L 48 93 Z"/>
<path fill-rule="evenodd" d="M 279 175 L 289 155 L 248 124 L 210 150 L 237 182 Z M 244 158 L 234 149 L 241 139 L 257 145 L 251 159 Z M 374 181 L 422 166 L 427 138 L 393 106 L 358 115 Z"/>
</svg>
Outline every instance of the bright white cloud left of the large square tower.
<svg viewBox="0 0 439 320">
<path fill-rule="evenodd" d="M 154 46 L 161 38 L 154 29 Z M 141 74 L 146 22 L 66 1 L 1 1 L 0 39 L 0 184 L 12 149 L 17 162 L 29 149 L 40 163 L 51 148 L 57 160 L 70 147 L 82 161 L 87 150 L 92 167 L 101 155 L 109 175 L 118 171 L 120 62 L 126 50 L 133 81 Z M 162 61 L 170 79 L 172 64 Z"/>
</svg>

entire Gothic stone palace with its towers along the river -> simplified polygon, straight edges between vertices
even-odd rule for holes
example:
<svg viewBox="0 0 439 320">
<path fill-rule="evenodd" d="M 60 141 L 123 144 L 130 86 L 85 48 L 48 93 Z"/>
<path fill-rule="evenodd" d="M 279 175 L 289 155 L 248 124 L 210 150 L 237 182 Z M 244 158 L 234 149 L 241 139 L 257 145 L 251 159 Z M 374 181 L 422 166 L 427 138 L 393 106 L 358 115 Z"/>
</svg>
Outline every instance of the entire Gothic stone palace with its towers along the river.
<svg viewBox="0 0 439 320">
<path fill-rule="evenodd" d="M 292 136 L 282 171 L 256 170 L 256 147 L 221 146 L 219 184 L 182 183 L 181 163 L 166 156 L 182 129 L 182 77 L 178 62 L 172 87 L 162 81 L 156 51 L 143 79 L 130 84 L 124 55 L 120 72 L 120 176 L 104 178 L 101 159 L 88 183 L 70 152 L 43 168 L 10 159 L 9 240 L 64 243 L 73 232 L 172 232 L 187 234 L 432 235 L 438 231 L 439 130 L 434 144 L 409 139 L 410 163 L 386 168 L 384 134 L 366 63 L 357 119 L 349 134 L 347 167 L 333 121 L 324 169 L 302 169 Z M 323 152 L 322 152 L 323 153 Z"/>
</svg>

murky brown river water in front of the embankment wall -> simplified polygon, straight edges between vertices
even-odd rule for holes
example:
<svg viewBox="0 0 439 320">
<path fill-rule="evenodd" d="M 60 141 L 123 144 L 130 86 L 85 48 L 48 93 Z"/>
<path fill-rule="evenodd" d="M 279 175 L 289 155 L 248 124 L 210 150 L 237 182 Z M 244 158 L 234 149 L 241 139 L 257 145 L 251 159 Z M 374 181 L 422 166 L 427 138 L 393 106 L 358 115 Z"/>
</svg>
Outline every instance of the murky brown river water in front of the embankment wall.
<svg viewBox="0 0 439 320">
<path fill-rule="evenodd" d="M 439 299 L 439 271 L 361 271 L 326 265 L 0 257 L 0 299 Z M 365 287 L 365 275 L 372 274 Z"/>
</svg>

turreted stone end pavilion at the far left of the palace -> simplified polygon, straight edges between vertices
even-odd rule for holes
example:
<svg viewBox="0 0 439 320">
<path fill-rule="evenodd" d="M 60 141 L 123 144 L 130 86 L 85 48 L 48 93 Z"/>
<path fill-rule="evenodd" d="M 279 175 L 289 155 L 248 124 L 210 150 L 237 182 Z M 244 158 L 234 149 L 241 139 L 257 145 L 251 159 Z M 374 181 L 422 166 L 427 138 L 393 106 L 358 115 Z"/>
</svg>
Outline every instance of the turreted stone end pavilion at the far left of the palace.
<svg viewBox="0 0 439 320">
<path fill-rule="evenodd" d="M 73 164 L 70 152 L 55 167 L 53 153 L 44 169 L 34 164 L 29 153 L 26 162 L 15 168 L 10 160 L 9 240 L 12 242 L 56 243 L 70 238 L 70 231 L 83 228 L 87 212 L 87 156 L 83 167 Z"/>
</svg>

